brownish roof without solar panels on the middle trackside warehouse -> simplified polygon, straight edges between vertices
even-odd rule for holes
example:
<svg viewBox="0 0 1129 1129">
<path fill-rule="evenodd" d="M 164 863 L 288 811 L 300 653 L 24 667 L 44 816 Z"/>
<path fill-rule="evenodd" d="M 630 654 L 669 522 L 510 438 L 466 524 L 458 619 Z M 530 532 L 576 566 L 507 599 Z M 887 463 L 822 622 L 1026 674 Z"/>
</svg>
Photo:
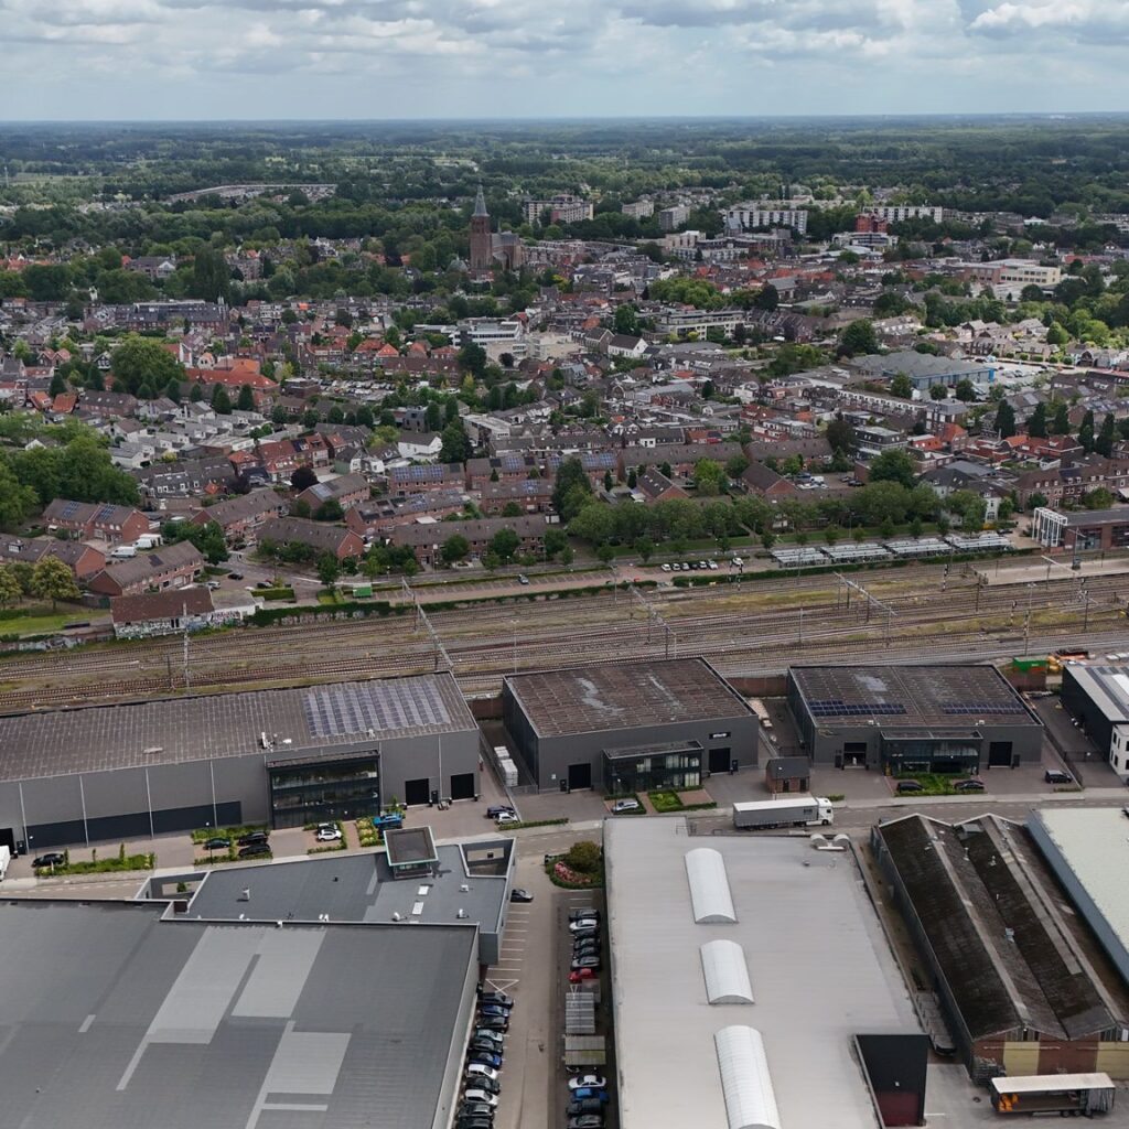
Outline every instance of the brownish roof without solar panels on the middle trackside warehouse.
<svg viewBox="0 0 1129 1129">
<path fill-rule="evenodd" d="M 506 679 L 542 737 L 755 714 L 702 658 L 606 663 Z"/>
</svg>

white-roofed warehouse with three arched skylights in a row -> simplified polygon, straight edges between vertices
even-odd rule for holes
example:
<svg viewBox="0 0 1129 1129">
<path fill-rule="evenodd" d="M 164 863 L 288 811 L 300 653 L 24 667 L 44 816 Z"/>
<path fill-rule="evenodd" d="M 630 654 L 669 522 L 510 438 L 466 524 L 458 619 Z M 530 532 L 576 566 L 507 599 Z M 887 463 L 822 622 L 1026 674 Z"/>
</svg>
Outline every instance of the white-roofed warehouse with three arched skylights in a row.
<svg viewBox="0 0 1129 1129">
<path fill-rule="evenodd" d="M 924 1123 L 928 1039 L 849 851 L 672 819 L 610 821 L 604 855 L 622 1129 Z"/>
</svg>

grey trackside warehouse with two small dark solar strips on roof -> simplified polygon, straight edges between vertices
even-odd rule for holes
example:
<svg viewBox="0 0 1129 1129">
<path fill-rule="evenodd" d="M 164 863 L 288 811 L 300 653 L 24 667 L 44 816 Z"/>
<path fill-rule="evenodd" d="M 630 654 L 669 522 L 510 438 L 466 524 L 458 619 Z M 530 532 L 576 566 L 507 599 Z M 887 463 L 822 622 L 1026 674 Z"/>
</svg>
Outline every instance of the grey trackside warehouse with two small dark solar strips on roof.
<svg viewBox="0 0 1129 1129">
<path fill-rule="evenodd" d="M 788 706 L 814 764 L 980 772 L 1042 752 L 1042 724 L 994 666 L 794 666 Z"/>
</svg>

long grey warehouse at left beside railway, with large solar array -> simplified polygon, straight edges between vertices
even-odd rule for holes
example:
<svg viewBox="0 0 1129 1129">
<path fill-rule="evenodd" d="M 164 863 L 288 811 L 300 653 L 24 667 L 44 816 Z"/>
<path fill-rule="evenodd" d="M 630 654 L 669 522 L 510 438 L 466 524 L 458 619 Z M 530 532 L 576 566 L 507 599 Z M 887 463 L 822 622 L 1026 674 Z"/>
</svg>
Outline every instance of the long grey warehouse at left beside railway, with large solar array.
<svg viewBox="0 0 1129 1129">
<path fill-rule="evenodd" d="M 0 843 L 33 851 L 478 794 L 449 674 L 0 717 Z"/>
</svg>

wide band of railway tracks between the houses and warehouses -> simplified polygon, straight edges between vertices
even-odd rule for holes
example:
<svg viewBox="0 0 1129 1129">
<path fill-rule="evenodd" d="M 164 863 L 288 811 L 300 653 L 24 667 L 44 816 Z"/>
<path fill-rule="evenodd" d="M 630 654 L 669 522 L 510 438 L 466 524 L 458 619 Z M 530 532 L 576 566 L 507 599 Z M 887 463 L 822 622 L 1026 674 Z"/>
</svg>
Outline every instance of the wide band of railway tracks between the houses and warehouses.
<svg viewBox="0 0 1129 1129">
<path fill-rule="evenodd" d="M 937 567 L 865 575 L 869 605 L 833 576 L 746 578 L 715 587 L 650 589 L 647 607 L 622 590 L 535 604 L 470 604 L 429 613 L 452 669 L 470 693 L 496 692 L 514 669 L 577 662 L 701 655 L 727 674 L 790 662 L 909 662 L 926 655 L 1006 657 L 1065 644 L 1124 649 L 1120 618 L 1129 577 L 978 587 Z M 662 621 L 655 619 L 648 607 Z M 889 609 L 889 612 L 885 610 Z M 437 667 L 428 632 L 405 613 L 385 619 L 288 624 L 71 651 L 0 658 L 0 712 L 64 708 L 161 694 L 395 676 Z M 665 624 L 665 625 L 664 625 Z"/>
</svg>

